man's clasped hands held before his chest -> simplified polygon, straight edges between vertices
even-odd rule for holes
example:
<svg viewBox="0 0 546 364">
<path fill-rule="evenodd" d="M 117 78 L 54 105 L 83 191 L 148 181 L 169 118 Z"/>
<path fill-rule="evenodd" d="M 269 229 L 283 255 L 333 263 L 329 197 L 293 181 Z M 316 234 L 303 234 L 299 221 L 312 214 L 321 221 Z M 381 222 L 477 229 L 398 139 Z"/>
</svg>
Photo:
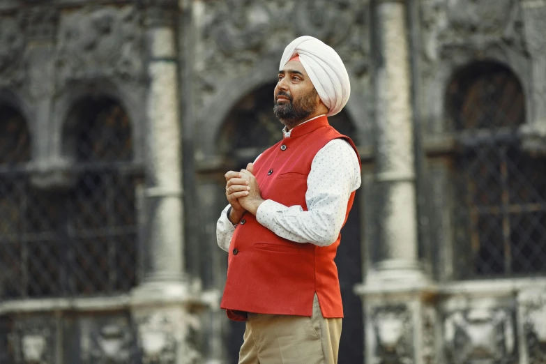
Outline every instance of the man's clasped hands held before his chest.
<svg viewBox="0 0 546 364">
<path fill-rule="evenodd" d="M 258 181 L 252 174 L 253 170 L 254 165 L 248 163 L 246 169 L 241 169 L 241 172 L 229 171 L 225 174 L 227 201 L 232 205 L 229 220 L 234 224 L 241 221 L 246 211 L 256 215 L 259 205 L 264 202 Z"/>
</svg>

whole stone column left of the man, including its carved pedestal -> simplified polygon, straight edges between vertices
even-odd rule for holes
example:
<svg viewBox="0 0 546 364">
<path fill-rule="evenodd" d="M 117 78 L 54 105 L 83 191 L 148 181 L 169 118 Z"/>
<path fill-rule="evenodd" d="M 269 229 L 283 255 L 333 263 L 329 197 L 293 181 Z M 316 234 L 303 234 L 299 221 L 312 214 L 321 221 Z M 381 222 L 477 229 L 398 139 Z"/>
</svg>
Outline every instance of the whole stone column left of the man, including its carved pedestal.
<svg viewBox="0 0 546 364">
<path fill-rule="evenodd" d="M 195 363 L 199 298 L 184 268 L 176 1 L 145 1 L 147 73 L 144 281 L 133 291 L 142 363 Z"/>
</svg>

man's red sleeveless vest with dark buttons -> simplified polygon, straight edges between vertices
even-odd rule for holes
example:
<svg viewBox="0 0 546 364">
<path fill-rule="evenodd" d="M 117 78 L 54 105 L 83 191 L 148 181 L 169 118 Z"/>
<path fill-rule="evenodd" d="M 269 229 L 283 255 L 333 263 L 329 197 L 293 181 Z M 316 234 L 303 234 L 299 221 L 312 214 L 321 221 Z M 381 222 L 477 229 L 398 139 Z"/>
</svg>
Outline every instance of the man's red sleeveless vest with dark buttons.
<svg viewBox="0 0 546 364">
<path fill-rule="evenodd" d="M 317 152 L 333 139 L 354 143 L 328 124 L 326 116 L 308 121 L 262 153 L 254 165 L 261 197 L 285 206 L 299 205 L 307 211 L 305 192 L 311 163 Z M 360 158 L 359 158 L 360 161 Z M 347 204 L 345 222 L 354 201 Z M 344 223 L 345 223 L 344 222 Z M 343 317 L 334 258 L 341 234 L 327 247 L 294 243 L 275 235 L 245 213 L 229 244 L 227 280 L 220 307 L 236 321 L 243 312 L 312 316 L 317 292 L 322 315 Z"/>
</svg>

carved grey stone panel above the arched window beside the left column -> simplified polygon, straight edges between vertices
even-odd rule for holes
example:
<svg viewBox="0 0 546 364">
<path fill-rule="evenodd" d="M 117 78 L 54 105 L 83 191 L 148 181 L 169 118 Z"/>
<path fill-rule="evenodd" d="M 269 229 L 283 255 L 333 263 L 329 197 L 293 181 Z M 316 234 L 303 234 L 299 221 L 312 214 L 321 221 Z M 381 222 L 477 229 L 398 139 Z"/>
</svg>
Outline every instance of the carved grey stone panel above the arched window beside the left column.
<svg viewBox="0 0 546 364">
<path fill-rule="evenodd" d="M 141 82 L 140 18 L 133 6 L 86 8 L 64 15 L 59 31 L 59 82 L 95 77 Z"/>
</svg>

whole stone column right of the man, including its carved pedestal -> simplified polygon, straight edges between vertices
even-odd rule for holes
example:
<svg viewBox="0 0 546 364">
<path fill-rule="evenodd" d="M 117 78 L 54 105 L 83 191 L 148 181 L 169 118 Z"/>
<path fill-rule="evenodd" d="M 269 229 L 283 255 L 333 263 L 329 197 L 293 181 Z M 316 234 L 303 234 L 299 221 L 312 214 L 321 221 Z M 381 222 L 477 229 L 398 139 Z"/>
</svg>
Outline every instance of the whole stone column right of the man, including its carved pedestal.
<svg viewBox="0 0 546 364">
<path fill-rule="evenodd" d="M 407 1 L 372 2 L 375 222 L 364 285 L 365 363 L 437 363 L 436 310 L 418 264 L 416 168 Z"/>
</svg>

